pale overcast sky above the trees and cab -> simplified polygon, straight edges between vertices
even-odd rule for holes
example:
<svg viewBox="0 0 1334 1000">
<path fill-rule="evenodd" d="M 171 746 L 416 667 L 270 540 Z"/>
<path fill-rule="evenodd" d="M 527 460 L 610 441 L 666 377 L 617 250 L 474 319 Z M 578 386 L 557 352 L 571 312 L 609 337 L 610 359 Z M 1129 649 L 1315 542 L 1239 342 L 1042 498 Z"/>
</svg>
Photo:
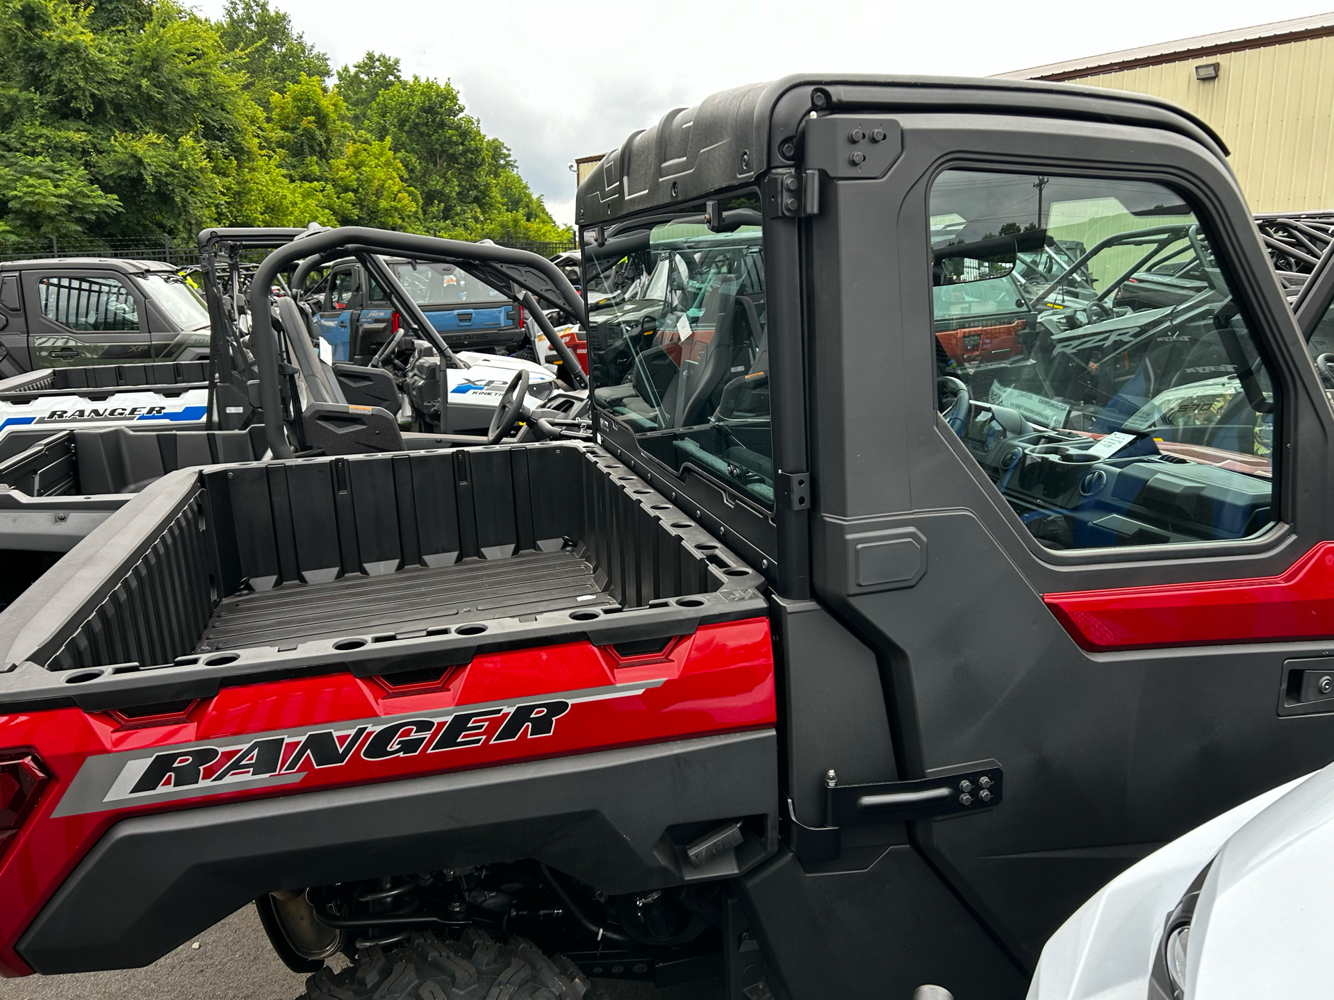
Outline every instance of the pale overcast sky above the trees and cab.
<svg viewBox="0 0 1334 1000">
<path fill-rule="evenodd" d="M 334 65 L 367 49 L 448 79 L 514 151 L 558 220 L 576 156 L 620 145 L 674 107 L 796 72 L 988 76 L 1303 17 L 1331 0 L 1011 3 L 820 0 L 276 0 Z M 203 0 L 217 16 L 221 0 Z"/>
</svg>

